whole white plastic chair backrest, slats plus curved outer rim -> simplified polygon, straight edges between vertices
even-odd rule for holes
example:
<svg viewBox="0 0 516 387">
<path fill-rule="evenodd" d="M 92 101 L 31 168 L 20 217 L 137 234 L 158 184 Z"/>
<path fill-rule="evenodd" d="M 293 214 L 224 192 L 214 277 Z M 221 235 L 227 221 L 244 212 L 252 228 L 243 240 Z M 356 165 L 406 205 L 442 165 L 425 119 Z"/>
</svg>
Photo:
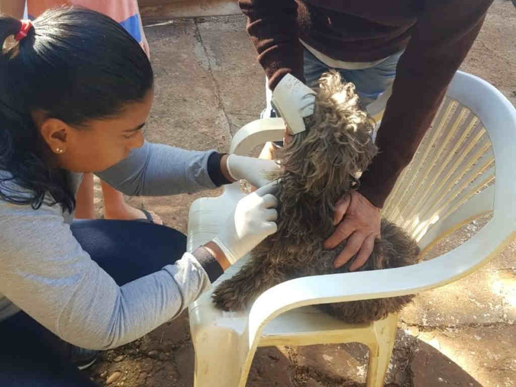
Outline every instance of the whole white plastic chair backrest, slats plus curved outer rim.
<svg viewBox="0 0 516 387">
<path fill-rule="evenodd" d="M 515 138 L 516 110 L 505 96 L 482 79 L 457 72 L 383 216 L 423 248 L 493 210 L 508 222 L 512 217 L 516 228 Z"/>
</svg>

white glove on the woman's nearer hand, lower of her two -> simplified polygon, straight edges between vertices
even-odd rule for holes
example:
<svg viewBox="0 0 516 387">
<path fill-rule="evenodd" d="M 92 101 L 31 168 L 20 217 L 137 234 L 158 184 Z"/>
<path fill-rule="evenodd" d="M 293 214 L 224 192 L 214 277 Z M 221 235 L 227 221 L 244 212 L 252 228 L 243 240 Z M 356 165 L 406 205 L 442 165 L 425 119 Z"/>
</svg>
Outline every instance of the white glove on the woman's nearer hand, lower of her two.
<svg viewBox="0 0 516 387">
<path fill-rule="evenodd" d="M 278 199 L 273 195 L 277 189 L 277 183 L 272 182 L 240 199 L 225 227 L 213 239 L 230 264 L 278 230 Z"/>
</svg>

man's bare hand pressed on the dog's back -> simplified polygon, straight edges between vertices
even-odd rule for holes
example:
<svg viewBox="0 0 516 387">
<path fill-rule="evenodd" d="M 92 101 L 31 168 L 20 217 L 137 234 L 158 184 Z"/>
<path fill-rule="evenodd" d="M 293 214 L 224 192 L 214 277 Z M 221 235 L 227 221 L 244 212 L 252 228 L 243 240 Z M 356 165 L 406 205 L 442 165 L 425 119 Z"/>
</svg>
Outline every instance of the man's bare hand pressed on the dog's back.
<svg viewBox="0 0 516 387">
<path fill-rule="evenodd" d="M 348 238 L 344 250 L 333 262 L 335 268 L 344 265 L 358 252 L 349 270 L 354 271 L 367 261 L 373 252 L 375 239 L 380 238 L 380 208 L 371 204 L 357 191 L 342 198 L 335 206 L 333 234 L 325 240 L 324 248 L 333 249 Z"/>
</svg>

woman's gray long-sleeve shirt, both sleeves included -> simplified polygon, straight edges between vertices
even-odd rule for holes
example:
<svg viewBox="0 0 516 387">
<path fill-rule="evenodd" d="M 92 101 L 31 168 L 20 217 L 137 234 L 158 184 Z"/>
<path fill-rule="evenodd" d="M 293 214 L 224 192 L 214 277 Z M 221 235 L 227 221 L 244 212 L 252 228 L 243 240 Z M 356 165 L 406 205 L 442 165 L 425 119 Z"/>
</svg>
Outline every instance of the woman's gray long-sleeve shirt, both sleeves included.
<svg viewBox="0 0 516 387">
<path fill-rule="evenodd" d="M 146 142 L 99 176 L 128 195 L 173 195 L 221 184 L 214 158 L 219 162 L 215 151 Z M 73 175 L 75 189 L 81 179 Z M 8 188 L 23 191 L 12 182 L 4 183 Z M 119 286 L 80 247 L 70 231 L 72 219 L 60 205 L 34 210 L 0 200 L 0 321 L 21 309 L 74 345 L 113 348 L 179 315 L 210 285 L 196 256 L 185 253 L 174 264 Z"/>
</svg>

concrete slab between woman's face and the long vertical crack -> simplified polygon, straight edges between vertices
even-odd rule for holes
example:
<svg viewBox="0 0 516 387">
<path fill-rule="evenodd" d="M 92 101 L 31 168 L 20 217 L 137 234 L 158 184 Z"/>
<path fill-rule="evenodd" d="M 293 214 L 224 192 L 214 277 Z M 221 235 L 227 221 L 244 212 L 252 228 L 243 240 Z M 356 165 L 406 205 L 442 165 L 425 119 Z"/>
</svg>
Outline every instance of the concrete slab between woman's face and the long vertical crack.
<svg viewBox="0 0 516 387">
<path fill-rule="evenodd" d="M 148 139 L 190 149 L 227 148 L 229 125 L 195 20 L 145 31 L 155 71 Z"/>
</svg>

